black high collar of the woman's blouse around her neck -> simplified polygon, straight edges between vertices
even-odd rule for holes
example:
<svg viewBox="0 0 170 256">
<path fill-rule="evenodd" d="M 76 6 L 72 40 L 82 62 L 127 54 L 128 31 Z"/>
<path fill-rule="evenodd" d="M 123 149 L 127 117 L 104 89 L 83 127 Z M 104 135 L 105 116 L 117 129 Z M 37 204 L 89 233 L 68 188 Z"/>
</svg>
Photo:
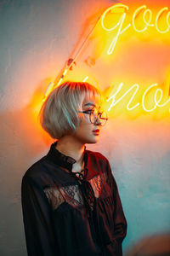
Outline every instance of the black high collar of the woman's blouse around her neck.
<svg viewBox="0 0 170 256">
<path fill-rule="evenodd" d="M 51 160 L 54 162 L 54 164 L 57 164 L 59 166 L 62 166 L 66 169 L 68 169 L 70 172 L 72 170 L 72 165 L 76 163 L 76 160 L 72 158 L 71 156 L 62 154 L 59 152 L 57 148 L 55 148 L 57 145 L 57 141 L 55 143 L 51 144 L 51 147 L 48 151 L 48 154 L 46 157 L 48 160 Z M 87 166 L 87 161 L 88 161 L 88 152 L 86 150 L 86 146 L 84 148 L 84 168 Z"/>
</svg>

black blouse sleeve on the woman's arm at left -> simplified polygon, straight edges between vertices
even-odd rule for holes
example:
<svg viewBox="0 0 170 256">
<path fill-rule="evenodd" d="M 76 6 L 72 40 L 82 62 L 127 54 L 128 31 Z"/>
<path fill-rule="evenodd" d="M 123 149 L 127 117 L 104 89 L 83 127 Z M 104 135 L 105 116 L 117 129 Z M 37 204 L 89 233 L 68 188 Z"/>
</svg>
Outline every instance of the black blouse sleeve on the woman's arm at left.
<svg viewBox="0 0 170 256">
<path fill-rule="evenodd" d="M 21 203 L 28 256 L 59 256 L 47 198 L 31 177 L 22 178 Z"/>
</svg>

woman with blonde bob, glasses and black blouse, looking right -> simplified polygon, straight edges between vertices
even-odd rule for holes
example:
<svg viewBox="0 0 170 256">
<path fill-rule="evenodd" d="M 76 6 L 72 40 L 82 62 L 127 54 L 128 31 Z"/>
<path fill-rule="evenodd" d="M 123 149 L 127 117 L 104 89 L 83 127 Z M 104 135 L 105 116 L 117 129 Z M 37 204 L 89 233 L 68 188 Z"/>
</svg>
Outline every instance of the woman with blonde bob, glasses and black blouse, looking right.
<svg viewBox="0 0 170 256">
<path fill-rule="evenodd" d="M 127 222 L 111 166 L 85 146 L 107 120 L 101 104 L 91 84 L 65 82 L 42 106 L 42 128 L 57 140 L 22 179 L 29 256 L 122 255 Z"/>
</svg>

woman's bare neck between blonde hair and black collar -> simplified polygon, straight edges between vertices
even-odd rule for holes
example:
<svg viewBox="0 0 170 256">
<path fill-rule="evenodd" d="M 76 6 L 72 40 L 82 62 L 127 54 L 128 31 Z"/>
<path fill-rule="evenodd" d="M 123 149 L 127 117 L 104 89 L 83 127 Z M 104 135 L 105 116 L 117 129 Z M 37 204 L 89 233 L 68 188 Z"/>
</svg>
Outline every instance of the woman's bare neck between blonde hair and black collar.
<svg viewBox="0 0 170 256">
<path fill-rule="evenodd" d="M 65 136 L 59 138 L 56 148 L 60 153 L 71 156 L 77 161 L 77 164 L 82 165 L 85 144 L 78 142 L 71 136 Z"/>
</svg>

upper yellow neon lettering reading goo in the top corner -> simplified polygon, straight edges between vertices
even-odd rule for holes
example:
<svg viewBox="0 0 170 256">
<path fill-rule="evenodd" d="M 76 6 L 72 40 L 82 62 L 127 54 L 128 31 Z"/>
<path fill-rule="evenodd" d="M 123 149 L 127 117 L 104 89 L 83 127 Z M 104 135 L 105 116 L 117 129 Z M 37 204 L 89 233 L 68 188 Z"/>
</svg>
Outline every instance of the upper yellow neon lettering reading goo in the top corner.
<svg viewBox="0 0 170 256">
<path fill-rule="evenodd" d="M 170 11 L 168 11 L 167 7 L 162 8 L 156 15 L 156 20 L 155 23 L 152 23 L 152 11 L 150 9 L 147 9 L 146 5 L 142 5 L 140 6 L 138 9 L 136 9 L 133 13 L 133 18 L 132 18 L 132 23 L 129 23 L 126 27 L 122 28 L 124 21 L 126 19 L 127 16 L 127 11 L 128 11 L 128 6 L 122 3 L 117 3 L 115 5 L 112 5 L 110 8 L 106 9 L 104 14 L 101 17 L 101 26 L 103 27 L 103 29 L 107 32 L 111 32 L 111 31 L 115 31 L 116 27 L 118 27 L 118 30 L 116 32 L 116 36 L 113 38 L 111 45 L 107 51 L 108 55 L 111 55 L 113 50 L 115 49 L 116 46 L 116 42 L 119 38 L 120 35 L 122 35 L 123 32 L 126 32 L 127 29 L 130 26 L 133 26 L 133 29 L 136 32 L 144 32 L 148 29 L 148 27 L 150 26 L 155 26 L 157 32 L 163 34 L 163 33 L 167 33 L 170 30 Z M 122 15 L 120 17 L 120 19 L 117 21 L 115 26 L 112 27 L 106 27 L 105 26 L 105 19 L 106 16 L 109 15 L 109 13 L 112 13 L 114 15 L 114 12 L 116 13 L 116 11 L 118 12 L 122 12 Z M 166 16 L 166 26 L 167 28 L 165 30 L 161 30 L 160 25 L 159 25 L 159 21 L 161 19 L 162 15 L 165 15 L 167 13 Z M 144 23 L 144 27 L 142 29 L 139 29 L 137 24 L 136 24 L 136 20 L 137 20 L 137 16 L 142 15 L 142 21 Z M 146 19 L 146 16 L 148 16 L 148 18 Z"/>
</svg>

